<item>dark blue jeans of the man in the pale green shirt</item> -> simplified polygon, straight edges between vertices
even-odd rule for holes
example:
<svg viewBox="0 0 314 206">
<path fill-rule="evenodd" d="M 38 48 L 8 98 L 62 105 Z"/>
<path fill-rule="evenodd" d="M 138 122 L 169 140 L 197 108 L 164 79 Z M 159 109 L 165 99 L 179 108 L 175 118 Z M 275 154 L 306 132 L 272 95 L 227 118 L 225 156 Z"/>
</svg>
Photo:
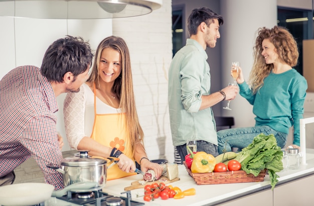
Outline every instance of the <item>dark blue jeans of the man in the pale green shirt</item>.
<svg viewBox="0 0 314 206">
<path fill-rule="evenodd" d="M 212 154 L 214 157 L 216 157 L 218 155 L 218 147 L 217 145 L 214 145 L 210 142 L 206 142 L 204 140 L 198 140 L 196 142 L 196 148 L 197 151 L 203 151 L 206 152 L 207 154 Z M 180 146 L 176 146 L 178 154 L 181 157 L 181 164 L 183 164 L 183 161 L 185 161 L 185 156 L 188 154 L 187 151 L 187 144 L 184 145 L 180 145 Z"/>
</svg>

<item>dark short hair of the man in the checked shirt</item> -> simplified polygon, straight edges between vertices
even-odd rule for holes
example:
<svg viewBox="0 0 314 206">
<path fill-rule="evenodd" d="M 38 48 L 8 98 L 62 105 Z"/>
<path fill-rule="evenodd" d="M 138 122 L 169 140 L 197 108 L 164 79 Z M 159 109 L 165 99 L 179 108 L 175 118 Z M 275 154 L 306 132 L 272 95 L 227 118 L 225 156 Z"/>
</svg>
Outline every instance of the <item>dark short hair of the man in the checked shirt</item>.
<svg viewBox="0 0 314 206">
<path fill-rule="evenodd" d="M 88 42 L 81 37 L 66 36 L 53 42 L 47 49 L 41 73 L 48 81 L 63 82 L 67 72 L 74 77 L 91 66 L 93 53 Z"/>
</svg>

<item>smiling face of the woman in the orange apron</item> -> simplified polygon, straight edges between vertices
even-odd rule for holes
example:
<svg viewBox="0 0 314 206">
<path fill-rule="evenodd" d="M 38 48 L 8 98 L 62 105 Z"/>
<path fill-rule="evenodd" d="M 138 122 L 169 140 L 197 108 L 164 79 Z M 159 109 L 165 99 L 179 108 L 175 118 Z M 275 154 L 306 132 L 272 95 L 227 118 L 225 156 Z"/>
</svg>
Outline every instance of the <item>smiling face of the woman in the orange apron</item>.
<svg viewBox="0 0 314 206">
<path fill-rule="evenodd" d="M 121 73 L 121 56 L 117 50 L 104 48 L 99 61 L 99 75 L 106 83 L 114 82 Z"/>
</svg>

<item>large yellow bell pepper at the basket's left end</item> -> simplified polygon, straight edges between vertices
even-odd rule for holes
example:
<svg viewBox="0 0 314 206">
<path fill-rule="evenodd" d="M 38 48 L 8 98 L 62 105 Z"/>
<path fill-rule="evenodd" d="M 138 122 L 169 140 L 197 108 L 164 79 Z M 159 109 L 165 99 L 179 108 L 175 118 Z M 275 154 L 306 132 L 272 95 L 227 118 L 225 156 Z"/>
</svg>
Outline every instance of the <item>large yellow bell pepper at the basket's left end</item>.
<svg viewBox="0 0 314 206">
<path fill-rule="evenodd" d="M 212 172 L 216 165 L 216 159 L 213 155 L 206 152 L 197 152 L 194 154 L 191 171 L 193 173 Z"/>
</svg>

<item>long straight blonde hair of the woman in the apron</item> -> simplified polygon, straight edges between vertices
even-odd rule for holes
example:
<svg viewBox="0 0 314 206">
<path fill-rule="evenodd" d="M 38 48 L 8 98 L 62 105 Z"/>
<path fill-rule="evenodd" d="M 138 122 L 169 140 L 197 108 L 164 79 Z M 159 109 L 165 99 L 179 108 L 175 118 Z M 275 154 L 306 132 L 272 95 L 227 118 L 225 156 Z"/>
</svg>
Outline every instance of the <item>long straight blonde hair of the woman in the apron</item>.
<svg viewBox="0 0 314 206">
<path fill-rule="evenodd" d="M 99 89 L 99 61 L 101 52 L 105 48 L 112 48 L 119 52 L 121 56 L 121 73 L 114 80 L 112 86 L 112 92 L 114 92 L 120 100 L 119 108 L 125 113 L 125 131 L 127 137 L 129 137 L 129 144 L 132 148 L 132 155 L 135 153 L 135 145 L 143 147 L 144 133 L 139 125 L 138 116 L 135 107 L 131 61 L 130 55 L 125 41 L 120 37 L 110 36 L 102 40 L 96 50 L 94 64 L 92 72 L 87 79 L 88 82 L 95 83 L 97 89 Z M 138 144 L 140 143 L 140 144 Z"/>
</svg>

